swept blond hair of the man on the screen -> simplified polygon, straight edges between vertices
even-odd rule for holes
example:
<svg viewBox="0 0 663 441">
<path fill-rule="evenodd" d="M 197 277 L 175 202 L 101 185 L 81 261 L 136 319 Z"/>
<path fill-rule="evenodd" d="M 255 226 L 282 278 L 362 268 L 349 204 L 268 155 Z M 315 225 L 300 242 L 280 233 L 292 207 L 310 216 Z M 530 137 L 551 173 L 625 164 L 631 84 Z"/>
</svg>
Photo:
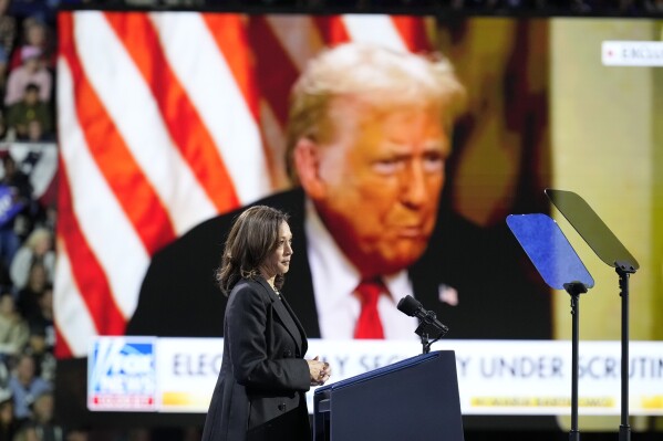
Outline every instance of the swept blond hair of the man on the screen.
<svg viewBox="0 0 663 441">
<path fill-rule="evenodd" d="M 328 141 L 334 125 L 333 98 L 358 96 L 372 106 L 397 108 L 415 103 L 438 104 L 450 127 L 465 103 L 465 88 L 441 54 L 421 55 L 379 45 L 345 43 L 312 59 L 292 87 L 286 162 L 293 183 L 299 179 L 293 150 L 302 138 Z"/>
</svg>

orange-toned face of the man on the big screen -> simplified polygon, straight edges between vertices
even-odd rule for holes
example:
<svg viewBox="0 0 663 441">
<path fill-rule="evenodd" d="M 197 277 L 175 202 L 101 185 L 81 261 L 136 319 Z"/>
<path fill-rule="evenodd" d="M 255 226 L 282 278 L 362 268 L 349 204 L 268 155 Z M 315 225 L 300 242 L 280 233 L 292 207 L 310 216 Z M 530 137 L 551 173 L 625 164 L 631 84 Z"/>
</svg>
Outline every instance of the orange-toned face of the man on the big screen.
<svg viewBox="0 0 663 441">
<path fill-rule="evenodd" d="M 317 150 L 315 207 L 362 275 L 416 261 L 436 221 L 449 143 L 438 106 L 330 107 L 332 135 Z"/>
</svg>

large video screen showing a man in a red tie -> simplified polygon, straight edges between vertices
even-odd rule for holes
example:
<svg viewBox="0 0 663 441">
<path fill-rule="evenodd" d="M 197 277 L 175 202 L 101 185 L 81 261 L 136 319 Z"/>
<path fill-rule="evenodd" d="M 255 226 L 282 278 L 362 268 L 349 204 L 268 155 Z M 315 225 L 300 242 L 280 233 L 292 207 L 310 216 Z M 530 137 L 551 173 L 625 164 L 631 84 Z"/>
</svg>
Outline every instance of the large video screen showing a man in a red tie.
<svg viewBox="0 0 663 441">
<path fill-rule="evenodd" d="M 570 297 L 505 222 L 553 217 L 595 281 L 581 296 L 580 335 L 595 343 L 581 412 L 617 414 L 618 276 L 546 188 L 584 198 L 638 259 L 632 406 L 662 414 L 663 391 L 646 390 L 663 375 L 662 33 L 661 20 L 614 18 L 61 12 L 64 417 L 205 412 L 222 349 L 216 270 L 255 203 L 290 214 L 282 293 L 310 356 L 344 378 L 416 355 L 417 319 L 396 309 L 412 295 L 448 326 L 433 349 L 456 351 L 465 414 L 569 412 Z M 363 67 L 385 49 L 453 70 L 455 101 L 408 99 L 416 81 L 386 87 L 401 73 Z M 349 107 L 317 92 L 350 88 Z M 383 284 L 382 342 L 354 338 L 364 275 Z"/>
</svg>

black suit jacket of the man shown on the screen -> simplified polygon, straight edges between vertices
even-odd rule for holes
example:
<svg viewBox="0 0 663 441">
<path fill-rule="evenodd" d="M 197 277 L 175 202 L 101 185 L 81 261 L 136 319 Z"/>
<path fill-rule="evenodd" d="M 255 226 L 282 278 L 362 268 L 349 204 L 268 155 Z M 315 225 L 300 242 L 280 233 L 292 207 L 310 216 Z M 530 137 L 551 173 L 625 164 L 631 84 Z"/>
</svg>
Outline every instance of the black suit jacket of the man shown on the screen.
<svg viewBox="0 0 663 441">
<path fill-rule="evenodd" d="M 283 292 L 307 335 L 320 337 L 307 258 L 304 193 L 290 190 L 255 204 L 290 214 L 294 253 Z M 222 335 L 226 298 L 216 285 L 215 272 L 230 225 L 242 210 L 201 223 L 154 255 L 128 335 Z M 449 327 L 447 338 L 551 337 L 550 292 L 506 222 L 485 230 L 441 209 L 428 248 L 408 275 L 415 297 Z M 441 284 L 458 291 L 457 305 L 441 302 Z"/>
</svg>

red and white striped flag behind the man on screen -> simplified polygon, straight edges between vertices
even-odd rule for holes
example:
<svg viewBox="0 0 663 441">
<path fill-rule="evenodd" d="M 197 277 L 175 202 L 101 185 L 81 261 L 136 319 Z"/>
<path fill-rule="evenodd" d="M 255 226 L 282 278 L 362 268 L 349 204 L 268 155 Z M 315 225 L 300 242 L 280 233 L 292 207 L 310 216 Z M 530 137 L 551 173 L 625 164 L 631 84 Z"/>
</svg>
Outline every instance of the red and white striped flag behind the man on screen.
<svg viewBox="0 0 663 441">
<path fill-rule="evenodd" d="M 431 49 L 425 18 L 59 14 L 56 356 L 123 335 L 151 256 L 288 186 L 288 94 L 327 45 Z"/>
</svg>

